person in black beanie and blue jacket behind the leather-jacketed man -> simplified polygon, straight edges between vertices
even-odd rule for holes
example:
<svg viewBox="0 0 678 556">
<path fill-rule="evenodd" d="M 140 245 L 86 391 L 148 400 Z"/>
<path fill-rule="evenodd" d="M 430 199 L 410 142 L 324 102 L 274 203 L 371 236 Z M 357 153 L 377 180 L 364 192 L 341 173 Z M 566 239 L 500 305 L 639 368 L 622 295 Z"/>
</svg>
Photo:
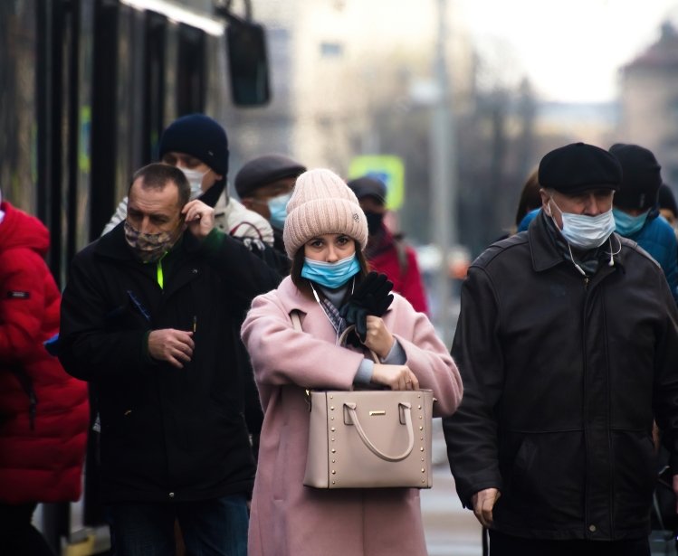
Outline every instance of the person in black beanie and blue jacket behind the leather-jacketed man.
<svg viewBox="0 0 678 556">
<path fill-rule="evenodd" d="M 617 143 L 609 151 L 622 165 L 623 175 L 612 208 L 616 232 L 634 240 L 659 263 L 678 302 L 678 241 L 671 224 L 659 218 L 661 166 L 642 146 Z"/>
</svg>

